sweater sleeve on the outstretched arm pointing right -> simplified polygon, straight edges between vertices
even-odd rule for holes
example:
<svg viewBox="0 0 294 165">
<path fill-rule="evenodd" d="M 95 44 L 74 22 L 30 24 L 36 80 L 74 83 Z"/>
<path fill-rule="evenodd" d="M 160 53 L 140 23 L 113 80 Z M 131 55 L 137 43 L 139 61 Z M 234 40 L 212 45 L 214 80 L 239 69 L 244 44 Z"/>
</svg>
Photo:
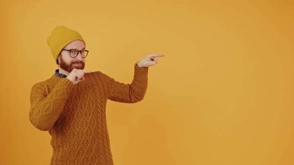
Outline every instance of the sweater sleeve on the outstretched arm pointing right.
<svg viewBox="0 0 294 165">
<path fill-rule="evenodd" d="M 143 100 L 147 90 L 148 68 L 135 65 L 134 79 L 131 84 L 125 84 L 102 74 L 106 82 L 108 99 L 117 102 L 135 103 Z"/>
</svg>

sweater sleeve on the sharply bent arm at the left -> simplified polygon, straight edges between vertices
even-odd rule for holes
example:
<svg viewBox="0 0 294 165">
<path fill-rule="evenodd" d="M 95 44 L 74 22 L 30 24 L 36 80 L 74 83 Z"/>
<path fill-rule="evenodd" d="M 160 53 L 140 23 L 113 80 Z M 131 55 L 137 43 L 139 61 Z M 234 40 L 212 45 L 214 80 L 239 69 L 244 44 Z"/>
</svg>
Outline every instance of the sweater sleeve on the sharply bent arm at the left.
<svg viewBox="0 0 294 165">
<path fill-rule="evenodd" d="M 39 130 L 50 130 L 59 115 L 73 87 L 68 79 L 56 83 L 48 93 L 45 84 L 37 83 L 31 89 L 29 120 Z"/>
</svg>

